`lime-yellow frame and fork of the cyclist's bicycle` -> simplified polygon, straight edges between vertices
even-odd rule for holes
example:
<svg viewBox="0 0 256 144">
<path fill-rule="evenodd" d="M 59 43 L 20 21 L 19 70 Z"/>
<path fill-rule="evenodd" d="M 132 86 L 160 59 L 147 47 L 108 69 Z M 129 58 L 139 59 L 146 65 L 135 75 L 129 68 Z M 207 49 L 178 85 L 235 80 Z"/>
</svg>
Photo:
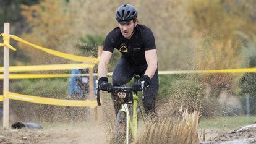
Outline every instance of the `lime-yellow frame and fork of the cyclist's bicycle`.
<svg viewBox="0 0 256 144">
<path fill-rule="evenodd" d="M 130 119 L 130 114 L 129 114 L 129 109 L 127 104 L 121 104 L 121 109 L 119 111 L 122 111 L 126 114 L 127 117 L 127 122 L 126 122 L 126 142 L 129 142 L 129 128 L 130 128 L 130 132 L 132 133 L 132 137 L 135 138 L 137 135 L 137 108 L 139 107 L 141 115 L 142 115 L 142 119 L 144 122 L 146 122 L 145 120 L 145 115 L 142 111 L 142 107 L 141 104 L 139 103 L 139 99 L 137 95 L 132 95 L 133 96 L 133 100 L 134 103 L 133 105 L 133 109 L 132 109 L 132 121 Z"/>
</svg>

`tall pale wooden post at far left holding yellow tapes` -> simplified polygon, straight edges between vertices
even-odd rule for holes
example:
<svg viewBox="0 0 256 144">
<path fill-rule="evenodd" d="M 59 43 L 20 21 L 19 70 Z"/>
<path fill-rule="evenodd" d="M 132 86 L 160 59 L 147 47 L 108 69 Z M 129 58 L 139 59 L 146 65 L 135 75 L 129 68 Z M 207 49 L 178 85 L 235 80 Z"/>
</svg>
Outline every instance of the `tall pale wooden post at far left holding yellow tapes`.
<svg viewBox="0 0 256 144">
<path fill-rule="evenodd" d="M 4 33 L 10 34 L 10 23 L 4 23 Z M 4 39 L 4 43 L 9 44 L 9 40 Z M 7 92 L 9 92 L 9 48 L 4 46 L 4 129 L 9 129 L 9 98 L 6 98 Z"/>
</svg>

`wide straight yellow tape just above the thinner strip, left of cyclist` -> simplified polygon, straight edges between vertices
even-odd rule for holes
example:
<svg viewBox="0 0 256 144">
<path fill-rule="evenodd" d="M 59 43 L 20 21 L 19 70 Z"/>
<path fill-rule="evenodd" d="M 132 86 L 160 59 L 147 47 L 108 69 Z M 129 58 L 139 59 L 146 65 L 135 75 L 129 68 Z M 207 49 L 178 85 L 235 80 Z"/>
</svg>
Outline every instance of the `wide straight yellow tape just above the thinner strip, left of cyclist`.
<svg viewBox="0 0 256 144">
<path fill-rule="evenodd" d="M 93 68 L 95 64 L 49 64 L 34 66 L 10 66 L 9 72 L 32 72 L 46 70 L 67 70 L 67 69 L 86 69 Z M 4 67 L 0 67 L 0 72 L 4 71 Z"/>
</svg>

